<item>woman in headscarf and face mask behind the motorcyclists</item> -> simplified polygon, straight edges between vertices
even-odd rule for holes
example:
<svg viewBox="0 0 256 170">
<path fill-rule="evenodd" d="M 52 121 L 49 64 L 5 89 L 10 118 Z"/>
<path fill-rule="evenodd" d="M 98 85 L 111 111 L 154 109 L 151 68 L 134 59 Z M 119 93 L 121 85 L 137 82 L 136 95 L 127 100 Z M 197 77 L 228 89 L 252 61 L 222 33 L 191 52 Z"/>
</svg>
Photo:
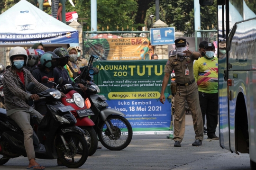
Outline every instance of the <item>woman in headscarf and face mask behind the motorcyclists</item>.
<svg viewBox="0 0 256 170">
<path fill-rule="evenodd" d="M 69 61 L 66 64 L 65 68 L 67 69 L 69 76 L 73 81 L 78 76 L 78 72 L 79 72 L 79 63 L 77 61 L 78 51 L 73 46 L 69 47 L 67 51 L 69 53 Z"/>
</svg>

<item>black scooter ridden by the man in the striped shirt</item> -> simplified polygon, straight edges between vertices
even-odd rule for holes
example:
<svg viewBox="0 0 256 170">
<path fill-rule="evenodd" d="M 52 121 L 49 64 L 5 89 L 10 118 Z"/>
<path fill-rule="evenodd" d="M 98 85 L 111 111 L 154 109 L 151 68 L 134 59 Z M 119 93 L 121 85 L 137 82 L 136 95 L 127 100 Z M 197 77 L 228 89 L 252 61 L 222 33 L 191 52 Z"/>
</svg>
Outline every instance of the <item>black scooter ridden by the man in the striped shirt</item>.
<svg viewBox="0 0 256 170">
<path fill-rule="evenodd" d="M 27 91 L 35 88 L 34 83 L 27 84 Z M 75 126 L 76 119 L 60 101 L 61 93 L 57 89 L 47 89 L 37 93 L 40 100 L 46 100 L 47 113 L 38 125 L 38 132 L 45 134 L 43 139 L 33 132 L 33 144 L 38 159 L 59 159 L 68 168 L 81 167 L 88 157 L 88 146 L 84 131 Z M 33 105 L 29 100 L 29 106 Z M 30 117 L 31 125 L 35 116 Z M 24 137 L 21 128 L 6 115 L 6 110 L 0 108 L 0 165 L 11 158 L 27 156 Z M 67 158 L 71 158 L 68 160 Z"/>
</svg>

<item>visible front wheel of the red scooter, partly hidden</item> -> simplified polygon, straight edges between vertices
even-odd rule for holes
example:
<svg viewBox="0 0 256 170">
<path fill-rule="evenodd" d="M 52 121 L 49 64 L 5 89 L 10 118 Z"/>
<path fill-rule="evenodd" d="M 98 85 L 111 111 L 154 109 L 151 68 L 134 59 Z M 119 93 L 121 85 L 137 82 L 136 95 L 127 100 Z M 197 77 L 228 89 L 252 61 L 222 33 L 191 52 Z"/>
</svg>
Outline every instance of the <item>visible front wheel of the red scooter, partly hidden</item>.
<svg viewBox="0 0 256 170">
<path fill-rule="evenodd" d="M 95 130 L 92 126 L 80 126 L 80 128 L 85 132 L 85 140 L 87 141 L 89 153 L 88 156 L 93 155 L 97 151 L 98 138 Z"/>
</svg>

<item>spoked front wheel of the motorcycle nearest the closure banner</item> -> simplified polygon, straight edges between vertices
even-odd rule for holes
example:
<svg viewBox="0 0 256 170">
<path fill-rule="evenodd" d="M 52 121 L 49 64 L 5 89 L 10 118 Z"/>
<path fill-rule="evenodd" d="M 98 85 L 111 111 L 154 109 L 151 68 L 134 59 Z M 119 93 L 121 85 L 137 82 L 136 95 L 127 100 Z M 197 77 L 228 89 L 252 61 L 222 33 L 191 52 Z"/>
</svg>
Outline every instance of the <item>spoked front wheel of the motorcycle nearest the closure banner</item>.
<svg viewBox="0 0 256 170">
<path fill-rule="evenodd" d="M 105 122 L 101 122 L 99 125 L 101 144 L 112 151 L 120 151 L 126 148 L 132 140 L 132 127 L 129 121 L 123 116 L 110 115 L 107 122 L 114 134 L 110 134 Z"/>
</svg>

